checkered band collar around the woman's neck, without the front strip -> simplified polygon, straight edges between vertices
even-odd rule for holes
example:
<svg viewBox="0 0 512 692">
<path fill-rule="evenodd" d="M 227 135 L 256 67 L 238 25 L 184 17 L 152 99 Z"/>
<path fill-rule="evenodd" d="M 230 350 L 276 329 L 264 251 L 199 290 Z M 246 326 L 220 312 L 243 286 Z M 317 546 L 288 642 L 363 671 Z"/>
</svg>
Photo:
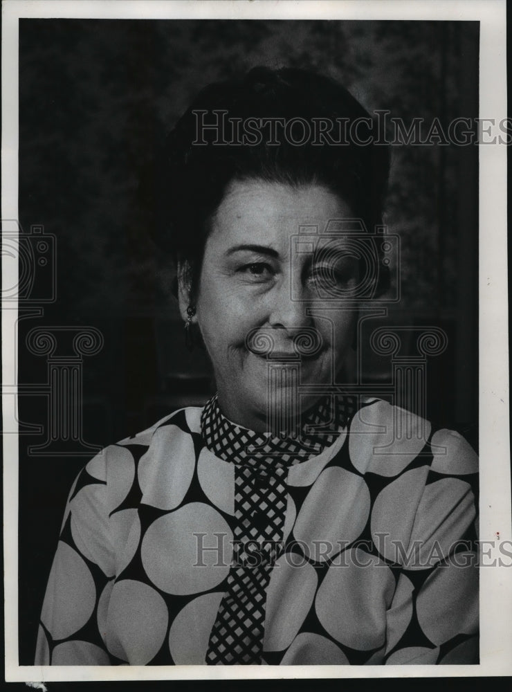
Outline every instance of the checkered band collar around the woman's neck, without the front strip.
<svg viewBox="0 0 512 692">
<path fill-rule="evenodd" d="M 302 417 L 296 439 L 255 432 L 233 423 L 219 408 L 217 394 L 201 415 L 205 445 L 217 457 L 233 464 L 291 466 L 331 446 L 354 414 L 355 397 L 326 396 Z"/>
</svg>

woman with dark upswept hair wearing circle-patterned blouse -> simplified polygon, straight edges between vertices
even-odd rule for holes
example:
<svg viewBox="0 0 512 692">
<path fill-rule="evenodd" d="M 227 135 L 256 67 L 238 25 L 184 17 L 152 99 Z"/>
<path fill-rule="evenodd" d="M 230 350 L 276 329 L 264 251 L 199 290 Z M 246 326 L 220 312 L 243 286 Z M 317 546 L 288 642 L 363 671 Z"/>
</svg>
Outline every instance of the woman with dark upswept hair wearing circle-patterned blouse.
<svg viewBox="0 0 512 692">
<path fill-rule="evenodd" d="M 176 125 L 158 235 L 217 394 L 77 477 L 37 664 L 477 662 L 473 450 L 340 387 L 387 288 L 374 139 L 296 69 L 214 84 Z"/>
</svg>

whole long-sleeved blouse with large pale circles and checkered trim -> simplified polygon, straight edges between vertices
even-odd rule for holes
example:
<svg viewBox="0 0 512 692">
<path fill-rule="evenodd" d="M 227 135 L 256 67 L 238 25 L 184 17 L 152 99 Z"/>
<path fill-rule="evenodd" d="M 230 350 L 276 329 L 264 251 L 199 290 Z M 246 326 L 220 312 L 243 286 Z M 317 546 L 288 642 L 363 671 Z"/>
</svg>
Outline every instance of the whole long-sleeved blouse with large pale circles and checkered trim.
<svg viewBox="0 0 512 692">
<path fill-rule="evenodd" d="M 472 448 L 378 399 L 309 422 L 257 435 L 214 397 L 91 459 L 35 663 L 477 663 Z"/>
</svg>

